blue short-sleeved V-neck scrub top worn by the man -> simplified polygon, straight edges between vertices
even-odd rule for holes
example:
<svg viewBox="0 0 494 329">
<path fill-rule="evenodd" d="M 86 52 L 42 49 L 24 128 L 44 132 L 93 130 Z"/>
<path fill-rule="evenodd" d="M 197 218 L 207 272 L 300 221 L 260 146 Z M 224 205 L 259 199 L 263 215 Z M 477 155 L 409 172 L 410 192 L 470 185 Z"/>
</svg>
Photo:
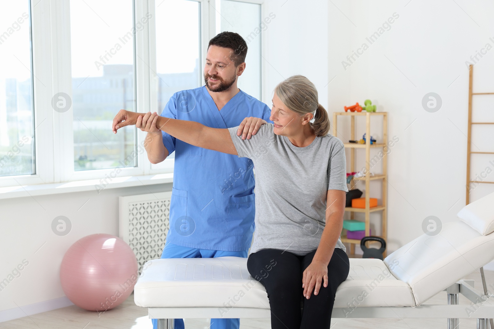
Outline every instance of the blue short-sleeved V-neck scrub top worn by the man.
<svg viewBox="0 0 494 329">
<path fill-rule="evenodd" d="M 242 90 L 218 110 L 206 86 L 173 94 L 161 113 L 224 129 L 240 125 L 248 116 L 272 123 L 270 115 L 266 104 Z M 166 241 L 191 248 L 247 250 L 255 228 L 252 160 L 162 134 L 168 153 L 175 151 Z"/>
</svg>

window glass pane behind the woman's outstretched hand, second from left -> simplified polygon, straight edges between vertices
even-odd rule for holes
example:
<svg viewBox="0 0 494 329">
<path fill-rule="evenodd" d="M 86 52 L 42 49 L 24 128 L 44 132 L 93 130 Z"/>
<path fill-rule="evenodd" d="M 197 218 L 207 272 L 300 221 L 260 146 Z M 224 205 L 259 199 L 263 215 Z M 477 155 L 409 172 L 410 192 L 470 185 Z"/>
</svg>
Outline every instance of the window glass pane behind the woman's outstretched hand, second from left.
<svg viewBox="0 0 494 329">
<path fill-rule="evenodd" d="M 135 111 L 133 3 L 71 0 L 70 12 L 74 170 L 136 166 L 135 127 L 110 129 Z"/>
</svg>

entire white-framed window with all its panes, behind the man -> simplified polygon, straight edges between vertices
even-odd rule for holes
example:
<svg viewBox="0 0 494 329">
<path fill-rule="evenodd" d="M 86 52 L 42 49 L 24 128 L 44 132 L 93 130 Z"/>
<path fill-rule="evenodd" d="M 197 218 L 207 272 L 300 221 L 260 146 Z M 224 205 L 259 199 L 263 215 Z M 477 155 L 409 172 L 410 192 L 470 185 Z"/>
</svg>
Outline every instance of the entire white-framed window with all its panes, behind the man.
<svg viewBox="0 0 494 329">
<path fill-rule="evenodd" d="M 260 5 L 250 3 L 259 1 L 5 2 L 0 186 L 172 172 L 174 154 L 151 164 L 147 133 L 113 134 L 113 118 L 121 109 L 161 114 L 173 93 L 204 85 L 207 42 L 226 30 L 246 39 L 239 87 L 260 98 Z"/>
</svg>

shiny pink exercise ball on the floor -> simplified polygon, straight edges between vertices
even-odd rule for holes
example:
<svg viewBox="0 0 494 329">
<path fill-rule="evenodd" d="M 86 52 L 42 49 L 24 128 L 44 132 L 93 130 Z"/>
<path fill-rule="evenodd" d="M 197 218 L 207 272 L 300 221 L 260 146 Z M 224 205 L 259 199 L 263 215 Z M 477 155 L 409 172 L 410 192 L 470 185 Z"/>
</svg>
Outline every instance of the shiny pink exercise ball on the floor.
<svg viewBox="0 0 494 329">
<path fill-rule="evenodd" d="M 74 243 L 60 266 L 60 282 L 67 297 L 89 311 L 120 305 L 139 277 L 130 247 L 111 234 L 92 234 Z"/>
</svg>

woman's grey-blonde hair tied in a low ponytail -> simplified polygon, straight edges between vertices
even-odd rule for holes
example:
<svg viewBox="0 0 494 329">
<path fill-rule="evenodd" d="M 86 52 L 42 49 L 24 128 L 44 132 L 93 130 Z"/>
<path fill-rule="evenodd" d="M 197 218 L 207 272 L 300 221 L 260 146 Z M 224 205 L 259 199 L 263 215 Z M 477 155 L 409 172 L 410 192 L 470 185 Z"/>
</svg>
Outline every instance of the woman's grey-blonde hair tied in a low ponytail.
<svg viewBox="0 0 494 329">
<path fill-rule="evenodd" d="M 316 86 L 308 78 L 303 75 L 290 76 L 276 86 L 275 93 L 288 109 L 300 115 L 315 111 L 314 122 L 310 124 L 316 136 L 328 135 L 328 112 L 319 104 Z"/>
</svg>

